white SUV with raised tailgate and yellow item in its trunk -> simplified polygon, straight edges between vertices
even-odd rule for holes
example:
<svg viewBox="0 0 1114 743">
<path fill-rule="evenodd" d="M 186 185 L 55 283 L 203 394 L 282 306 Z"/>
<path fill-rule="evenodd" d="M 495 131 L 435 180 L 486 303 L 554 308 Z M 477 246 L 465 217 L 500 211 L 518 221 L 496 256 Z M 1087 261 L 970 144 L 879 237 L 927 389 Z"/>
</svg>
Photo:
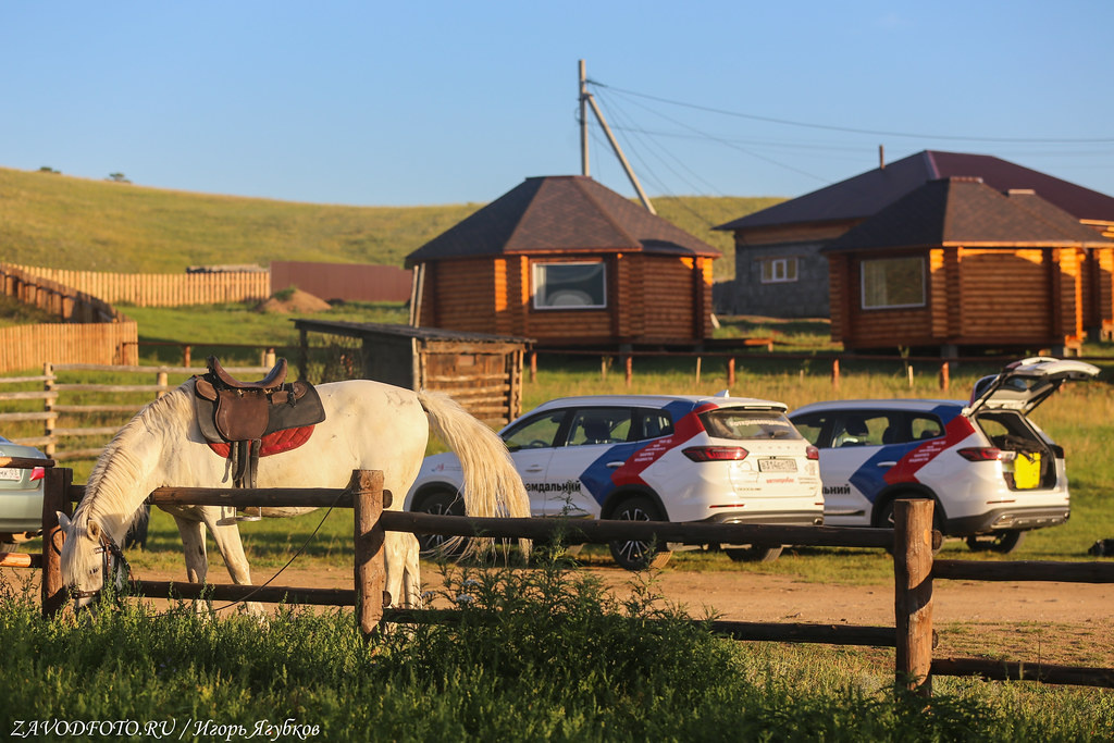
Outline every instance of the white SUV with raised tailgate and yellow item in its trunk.
<svg viewBox="0 0 1114 743">
<path fill-rule="evenodd" d="M 1013 551 L 1025 532 L 1071 515 L 1064 450 L 1027 418 L 1082 361 L 1024 359 L 975 384 L 971 399 L 841 400 L 790 416 L 820 449 L 824 524 L 892 522 L 898 498 L 932 498 L 936 528 L 971 549 Z"/>
</svg>

